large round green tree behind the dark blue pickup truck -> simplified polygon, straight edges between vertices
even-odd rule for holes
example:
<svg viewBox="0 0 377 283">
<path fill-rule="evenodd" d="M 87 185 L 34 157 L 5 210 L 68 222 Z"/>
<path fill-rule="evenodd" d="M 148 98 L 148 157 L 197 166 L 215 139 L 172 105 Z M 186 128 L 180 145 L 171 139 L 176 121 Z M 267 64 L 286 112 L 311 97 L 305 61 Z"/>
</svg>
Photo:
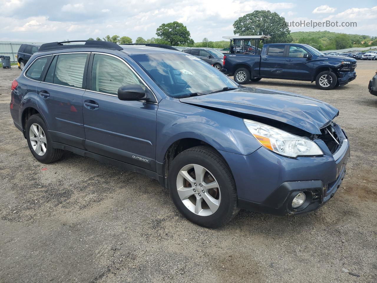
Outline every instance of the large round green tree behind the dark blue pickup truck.
<svg viewBox="0 0 377 283">
<path fill-rule="evenodd" d="M 293 38 L 285 22 L 276 12 L 256 10 L 243 17 L 239 17 L 234 23 L 234 34 L 239 35 L 270 35 L 269 43 L 289 43 Z"/>
</svg>

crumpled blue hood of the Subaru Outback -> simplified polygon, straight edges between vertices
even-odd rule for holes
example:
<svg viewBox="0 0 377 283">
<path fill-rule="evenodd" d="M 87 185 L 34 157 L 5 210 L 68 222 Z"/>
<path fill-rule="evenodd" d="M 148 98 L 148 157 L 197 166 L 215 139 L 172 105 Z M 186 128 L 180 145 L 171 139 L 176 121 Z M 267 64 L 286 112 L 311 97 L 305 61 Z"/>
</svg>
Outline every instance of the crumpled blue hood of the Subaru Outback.
<svg viewBox="0 0 377 283">
<path fill-rule="evenodd" d="M 339 113 L 335 107 L 314 98 L 260 88 L 242 88 L 179 100 L 206 108 L 270 118 L 311 134 L 321 134 L 320 129 Z"/>
</svg>

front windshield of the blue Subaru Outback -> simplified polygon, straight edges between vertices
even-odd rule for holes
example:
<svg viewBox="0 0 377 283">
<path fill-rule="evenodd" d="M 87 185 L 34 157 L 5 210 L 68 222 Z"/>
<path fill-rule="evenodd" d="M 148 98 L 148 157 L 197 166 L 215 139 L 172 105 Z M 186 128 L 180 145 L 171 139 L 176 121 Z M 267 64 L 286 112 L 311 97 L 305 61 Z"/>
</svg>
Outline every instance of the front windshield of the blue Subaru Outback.
<svg viewBox="0 0 377 283">
<path fill-rule="evenodd" d="M 208 94 L 238 87 L 218 69 L 189 54 L 139 54 L 130 57 L 171 97 Z"/>
</svg>

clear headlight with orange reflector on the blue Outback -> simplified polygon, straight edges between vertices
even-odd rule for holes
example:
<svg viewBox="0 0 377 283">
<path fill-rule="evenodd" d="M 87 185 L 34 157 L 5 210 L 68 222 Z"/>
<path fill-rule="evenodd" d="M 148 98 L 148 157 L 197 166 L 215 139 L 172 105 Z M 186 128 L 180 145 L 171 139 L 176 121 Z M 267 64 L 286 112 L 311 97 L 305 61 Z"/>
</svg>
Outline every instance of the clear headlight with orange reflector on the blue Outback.
<svg viewBox="0 0 377 283">
<path fill-rule="evenodd" d="M 323 155 L 319 146 L 308 138 L 248 119 L 244 119 L 244 123 L 262 146 L 277 154 L 288 157 Z"/>
</svg>

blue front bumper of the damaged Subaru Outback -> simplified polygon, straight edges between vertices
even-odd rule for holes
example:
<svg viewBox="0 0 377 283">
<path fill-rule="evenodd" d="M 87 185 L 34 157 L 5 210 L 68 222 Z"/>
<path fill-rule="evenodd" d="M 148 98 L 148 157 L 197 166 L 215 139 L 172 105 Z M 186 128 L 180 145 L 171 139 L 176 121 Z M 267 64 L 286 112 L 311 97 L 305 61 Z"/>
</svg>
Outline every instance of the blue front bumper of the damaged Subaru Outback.
<svg viewBox="0 0 377 283">
<path fill-rule="evenodd" d="M 319 157 L 287 158 L 265 148 L 236 161 L 227 160 L 238 192 L 241 209 L 274 215 L 302 214 L 324 205 L 334 196 L 346 172 L 350 150 L 346 135 L 341 132 L 342 144 L 332 155 L 326 145 L 317 144 L 324 152 Z M 327 150 L 326 150 L 327 149 Z M 248 168 L 248 169 L 245 169 Z M 304 192 L 306 200 L 297 209 L 292 200 Z"/>
</svg>

